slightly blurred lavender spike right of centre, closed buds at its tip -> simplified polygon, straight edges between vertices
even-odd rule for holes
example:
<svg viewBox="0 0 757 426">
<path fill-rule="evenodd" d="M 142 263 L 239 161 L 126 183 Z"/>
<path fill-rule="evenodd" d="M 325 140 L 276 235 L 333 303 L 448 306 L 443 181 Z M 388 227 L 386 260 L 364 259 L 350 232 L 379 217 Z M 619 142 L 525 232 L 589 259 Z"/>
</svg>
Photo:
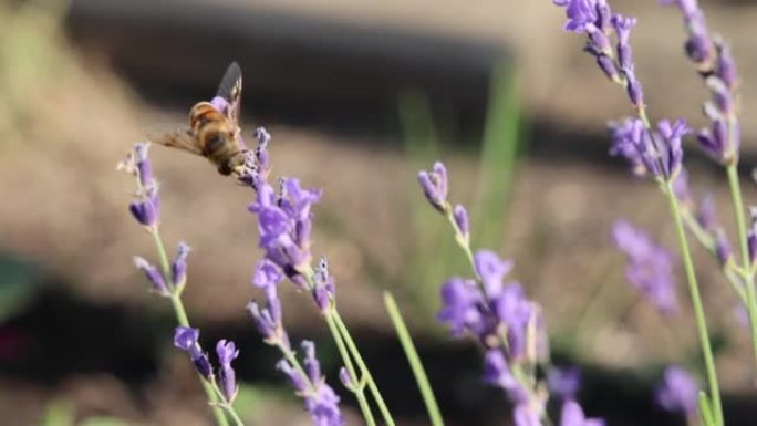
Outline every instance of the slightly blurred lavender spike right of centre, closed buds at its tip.
<svg viewBox="0 0 757 426">
<path fill-rule="evenodd" d="M 483 380 L 506 393 L 517 426 L 552 424 L 547 412 L 548 382 L 538 374 L 550 370 L 541 308 L 526 298 L 518 282 L 507 279 L 511 260 L 486 249 L 474 253 L 466 209 L 462 205 L 453 207 L 447 199 L 449 185 L 444 164 L 437 162 L 432 170 L 419 172 L 418 183 L 431 206 L 452 226 L 471 269 L 471 278 L 452 277 L 443 284 L 438 320 L 449 326 L 453 336 L 468 334 L 475 339 L 484 356 Z M 553 382 L 560 382 L 559 373 L 552 373 Z M 560 378 L 566 378 L 560 384 L 567 385 L 561 389 L 564 401 L 560 426 L 603 425 L 601 419 L 587 418 L 575 402 L 577 377 Z"/>
</svg>

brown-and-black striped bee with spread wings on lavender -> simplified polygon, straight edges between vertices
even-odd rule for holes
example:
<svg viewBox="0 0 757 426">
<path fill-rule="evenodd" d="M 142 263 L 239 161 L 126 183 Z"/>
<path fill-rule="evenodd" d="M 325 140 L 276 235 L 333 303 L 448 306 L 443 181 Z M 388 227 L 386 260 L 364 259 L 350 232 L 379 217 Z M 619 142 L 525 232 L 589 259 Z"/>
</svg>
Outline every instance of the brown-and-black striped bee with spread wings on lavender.
<svg viewBox="0 0 757 426">
<path fill-rule="evenodd" d="M 232 62 L 218 85 L 216 98 L 211 102 L 198 102 L 191 107 L 189 128 L 148 135 L 147 138 L 160 145 L 201 155 L 224 176 L 239 175 L 248 153 L 239 128 L 241 83 L 241 70 Z"/>
</svg>

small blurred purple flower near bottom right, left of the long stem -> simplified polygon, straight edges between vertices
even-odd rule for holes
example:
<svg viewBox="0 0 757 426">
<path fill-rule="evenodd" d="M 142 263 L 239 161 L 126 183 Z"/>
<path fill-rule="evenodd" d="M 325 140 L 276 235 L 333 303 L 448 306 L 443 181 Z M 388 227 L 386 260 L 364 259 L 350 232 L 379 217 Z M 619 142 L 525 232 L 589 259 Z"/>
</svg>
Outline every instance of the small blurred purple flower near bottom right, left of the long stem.
<svg viewBox="0 0 757 426">
<path fill-rule="evenodd" d="M 654 398 L 662 408 L 689 416 L 696 413 L 698 393 L 694 377 L 684 368 L 671 365 L 665 368 Z"/>
</svg>

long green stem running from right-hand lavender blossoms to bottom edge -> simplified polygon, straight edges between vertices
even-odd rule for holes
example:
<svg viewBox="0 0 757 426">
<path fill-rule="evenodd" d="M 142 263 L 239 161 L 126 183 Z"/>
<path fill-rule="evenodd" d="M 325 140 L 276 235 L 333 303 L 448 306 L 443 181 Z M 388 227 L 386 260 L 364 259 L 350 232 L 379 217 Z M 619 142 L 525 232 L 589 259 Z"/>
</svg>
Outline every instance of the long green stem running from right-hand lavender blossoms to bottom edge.
<svg viewBox="0 0 757 426">
<path fill-rule="evenodd" d="M 702 295 L 699 294 L 699 284 L 696 281 L 696 272 L 694 271 L 694 262 L 688 248 L 688 240 L 684 229 L 683 219 L 681 217 L 681 207 L 678 199 L 673 191 L 673 183 L 665 183 L 665 196 L 671 207 L 673 221 L 675 222 L 676 236 L 681 246 L 681 254 L 683 257 L 684 269 L 686 272 L 686 281 L 688 282 L 688 291 L 692 297 L 692 305 L 694 308 L 694 316 L 696 319 L 696 329 L 699 334 L 699 343 L 702 345 L 702 355 L 704 356 L 705 370 L 707 373 L 707 384 L 712 398 L 712 409 L 716 418 L 716 425 L 723 426 L 723 405 L 720 403 L 720 389 L 717 382 L 717 373 L 715 371 L 715 360 L 713 356 L 713 349 L 709 343 L 709 333 L 707 331 L 707 320 L 704 313 L 702 303 Z"/>
</svg>

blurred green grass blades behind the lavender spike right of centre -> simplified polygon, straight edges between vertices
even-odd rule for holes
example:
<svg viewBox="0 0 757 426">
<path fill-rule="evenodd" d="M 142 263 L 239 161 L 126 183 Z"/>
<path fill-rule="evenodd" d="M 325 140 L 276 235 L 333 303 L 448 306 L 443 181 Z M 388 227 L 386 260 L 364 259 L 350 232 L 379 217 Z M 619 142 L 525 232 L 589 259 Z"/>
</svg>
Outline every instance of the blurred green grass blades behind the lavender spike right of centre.
<svg viewBox="0 0 757 426">
<path fill-rule="evenodd" d="M 400 100 L 400 117 L 405 133 L 405 150 L 416 169 L 431 166 L 442 150 L 440 125 L 435 123 L 431 103 L 417 92 L 408 92 Z M 471 144 L 480 157 L 475 187 L 452 188 L 471 207 L 473 241 L 476 247 L 501 247 L 507 221 L 507 200 L 512 186 L 514 168 L 520 146 L 520 98 L 517 76 L 506 64 L 498 64 L 491 73 L 489 105 L 487 107 L 483 141 Z M 460 147 L 456 147 L 460 149 Z M 465 179 L 459 179 L 465 180 Z M 421 318 L 433 318 L 438 305 L 438 287 L 450 274 L 466 273 L 464 259 L 446 232 L 447 224 L 429 217 L 425 199 L 413 194 L 408 215 L 415 235 L 408 239 L 407 268 L 400 282 L 403 291 L 421 310 Z M 425 313 L 423 313 L 425 312 Z"/>
</svg>

